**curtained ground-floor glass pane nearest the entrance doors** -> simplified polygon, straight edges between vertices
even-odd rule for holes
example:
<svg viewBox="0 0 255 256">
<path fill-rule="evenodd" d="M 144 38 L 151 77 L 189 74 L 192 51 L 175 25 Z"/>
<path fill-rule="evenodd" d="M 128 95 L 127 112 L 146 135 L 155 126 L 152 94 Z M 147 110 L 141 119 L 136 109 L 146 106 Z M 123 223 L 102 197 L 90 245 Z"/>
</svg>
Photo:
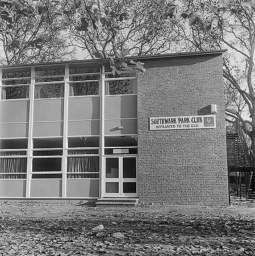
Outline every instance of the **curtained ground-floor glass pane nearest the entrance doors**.
<svg viewBox="0 0 255 256">
<path fill-rule="evenodd" d="M 67 164 L 68 172 L 99 172 L 99 156 L 72 156 Z"/>
</svg>

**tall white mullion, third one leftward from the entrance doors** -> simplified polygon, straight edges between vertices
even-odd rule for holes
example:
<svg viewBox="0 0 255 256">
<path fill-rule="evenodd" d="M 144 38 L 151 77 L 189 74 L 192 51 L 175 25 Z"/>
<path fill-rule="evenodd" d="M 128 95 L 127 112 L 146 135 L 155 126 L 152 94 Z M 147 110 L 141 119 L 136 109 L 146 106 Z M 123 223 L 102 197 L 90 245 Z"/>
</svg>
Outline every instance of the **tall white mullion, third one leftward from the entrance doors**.
<svg viewBox="0 0 255 256">
<path fill-rule="evenodd" d="M 26 197 L 30 197 L 31 172 L 32 172 L 32 148 L 33 148 L 33 119 L 34 119 L 34 98 L 35 98 L 35 67 L 31 67 L 30 83 L 30 104 L 29 104 L 29 125 L 28 125 L 28 147 L 27 147 L 27 182 Z"/>
</svg>

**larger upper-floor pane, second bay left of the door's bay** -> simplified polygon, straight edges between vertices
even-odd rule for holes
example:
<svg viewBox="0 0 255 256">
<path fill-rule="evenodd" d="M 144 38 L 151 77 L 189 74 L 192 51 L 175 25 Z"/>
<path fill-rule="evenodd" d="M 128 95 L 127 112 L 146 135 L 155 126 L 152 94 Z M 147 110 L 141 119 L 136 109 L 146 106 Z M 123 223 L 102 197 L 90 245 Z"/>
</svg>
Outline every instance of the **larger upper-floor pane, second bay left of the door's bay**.
<svg viewBox="0 0 255 256">
<path fill-rule="evenodd" d="M 35 98 L 62 98 L 64 90 L 64 84 L 35 85 Z"/>
</svg>

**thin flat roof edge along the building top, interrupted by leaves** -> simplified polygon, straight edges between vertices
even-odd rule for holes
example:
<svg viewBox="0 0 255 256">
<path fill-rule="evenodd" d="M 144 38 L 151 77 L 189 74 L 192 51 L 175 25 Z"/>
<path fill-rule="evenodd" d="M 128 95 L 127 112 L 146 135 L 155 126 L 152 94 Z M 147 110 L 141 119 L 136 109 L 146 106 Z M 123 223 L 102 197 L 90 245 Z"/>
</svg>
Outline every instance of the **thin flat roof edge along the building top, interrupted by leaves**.
<svg viewBox="0 0 255 256">
<path fill-rule="evenodd" d="M 147 59 L 164 59 L 164 58 L 174 58 L 174 57 L 187 57 L 187 56 L 198 56 L 198 55 L 215 55 L 227 52 L 227 49 L 218 49 L 213 51 L 199 51 L 199 52 L 179 52 L 179 53 L 166 53 L 157 55 L 144 55 L 144 56 L 128 56 L 125 57 L 126 60 L 147 60 Z M 32 64 L 18 64 L 18 65 L 0 65 L 0 68 L 18 68 L 18 67 L 36 67 L 41 65 L 61 65 L 61 64 L 78 64 L 78 63 L 106 63 L 109 59 L 84 59 L 84 60 L 65 60 L 47 63 L 32 63 Z"/>
</svg>

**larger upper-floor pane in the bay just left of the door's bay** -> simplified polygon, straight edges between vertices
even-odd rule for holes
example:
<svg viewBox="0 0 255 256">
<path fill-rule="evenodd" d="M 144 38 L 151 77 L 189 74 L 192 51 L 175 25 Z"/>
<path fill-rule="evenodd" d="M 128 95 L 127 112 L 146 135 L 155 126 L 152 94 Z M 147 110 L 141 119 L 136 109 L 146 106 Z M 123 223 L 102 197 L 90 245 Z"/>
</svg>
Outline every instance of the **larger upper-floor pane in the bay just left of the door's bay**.
<svg viewBox="0 0 255 256">
<path fill-rule="evenodd" d="M 99 95 L 99 82 L 70 83 L 69 96 Z"/>
</svg>

